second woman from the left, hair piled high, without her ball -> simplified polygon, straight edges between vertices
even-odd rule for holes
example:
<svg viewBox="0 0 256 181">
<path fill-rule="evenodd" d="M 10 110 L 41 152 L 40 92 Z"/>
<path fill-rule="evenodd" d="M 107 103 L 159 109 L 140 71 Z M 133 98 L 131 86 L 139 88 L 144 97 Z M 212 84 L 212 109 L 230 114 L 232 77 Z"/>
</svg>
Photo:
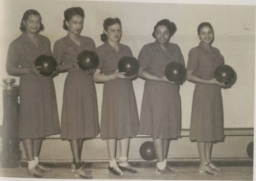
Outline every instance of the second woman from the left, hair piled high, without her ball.
<svg viewBox="0 0 256 181">
<path fill-rule="evenodd" d="M 71 7 L 64 12 L 63 29 L 67 36 L 54 44 L 53 56 L 59 64 L 59 71 L 68 71 L 65 81 L 61 113 L 61 138 L 68 139 L 73 153 L 71 171 L 76 176 L 91 179 L 91 170 L 81 162 L 83 139 L 96 137 L 100 133 L 97 97 L 92 73 L 82 71 L 77 65 L 77 55 L 83 50 L 95 50 L 92 38 L 81 36 L 84 10 Z"/>
</svg>

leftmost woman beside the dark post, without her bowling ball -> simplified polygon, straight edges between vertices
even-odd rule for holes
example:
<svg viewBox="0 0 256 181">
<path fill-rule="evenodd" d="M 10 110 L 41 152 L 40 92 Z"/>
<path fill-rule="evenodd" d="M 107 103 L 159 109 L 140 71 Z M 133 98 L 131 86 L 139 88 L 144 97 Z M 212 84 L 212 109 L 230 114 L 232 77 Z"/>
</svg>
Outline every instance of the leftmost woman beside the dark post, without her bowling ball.
<svg viewBox="0 0 256 181">
<path fill-rule="evenodd" d="M 52 55 L 50 40 L 40 35 L 44 30 L 36 10 L 27 10 L 20 23 L 22 34 L 9 46 L 6 71 L 20 76 L 20 114 L 18 121 L 21 139 L 28 160 L 28 173 L 43 178 L 50 168 L 38 163 L 42 139 L 59 134 L 59 118 L 52 77 L 43 77 L 34 62 L 39 55 Z"/>
</svg>

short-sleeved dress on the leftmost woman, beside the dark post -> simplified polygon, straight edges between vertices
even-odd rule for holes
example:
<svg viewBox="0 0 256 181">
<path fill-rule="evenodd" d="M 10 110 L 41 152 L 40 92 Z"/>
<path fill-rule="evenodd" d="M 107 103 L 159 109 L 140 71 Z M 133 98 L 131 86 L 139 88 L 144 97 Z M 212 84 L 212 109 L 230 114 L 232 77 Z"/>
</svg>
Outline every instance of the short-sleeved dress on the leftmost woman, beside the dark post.
<svg viewBox="0 0 256 181">
<path fill-rule="evenodd" d="M 38 35 L 38 47 L 23 32 L 9 46 L 6 68 L 33 67 L 39 55 L 52 55 L 50 40 Z M 34 73 L 20 76 L 19 138 L 37 139 L 60 133 L 55 88 L 52 77 Z"/>
</svg>

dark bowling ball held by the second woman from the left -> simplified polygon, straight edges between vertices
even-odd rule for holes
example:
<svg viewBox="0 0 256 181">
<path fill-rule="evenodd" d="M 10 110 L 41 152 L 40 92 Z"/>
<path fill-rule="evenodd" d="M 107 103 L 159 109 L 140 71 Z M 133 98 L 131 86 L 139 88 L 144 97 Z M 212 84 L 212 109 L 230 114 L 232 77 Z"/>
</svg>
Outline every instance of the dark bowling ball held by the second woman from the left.
<svg viewBox="0 0 256 181">
<path fill-rule="evenodd" d="M 99 56 L 96 52 L 83 50 L 77 56 L 77 64 L 82 70 L 96 69 L 100 63 Z"/>
</svg>

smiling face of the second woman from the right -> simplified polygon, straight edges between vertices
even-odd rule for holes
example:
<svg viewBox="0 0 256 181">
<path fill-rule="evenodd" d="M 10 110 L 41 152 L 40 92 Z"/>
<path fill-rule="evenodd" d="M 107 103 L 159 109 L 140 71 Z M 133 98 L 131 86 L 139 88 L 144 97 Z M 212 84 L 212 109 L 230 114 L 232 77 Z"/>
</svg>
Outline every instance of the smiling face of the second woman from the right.
<svg viewBox="0 0 256 181">
<path fill-rule="evenodd" d="M 155 31 L 155 37 L 158 44 L 165 45 L 170 40 L 169 29 L 164 26 L 158 26 Z"/>
</svg>

